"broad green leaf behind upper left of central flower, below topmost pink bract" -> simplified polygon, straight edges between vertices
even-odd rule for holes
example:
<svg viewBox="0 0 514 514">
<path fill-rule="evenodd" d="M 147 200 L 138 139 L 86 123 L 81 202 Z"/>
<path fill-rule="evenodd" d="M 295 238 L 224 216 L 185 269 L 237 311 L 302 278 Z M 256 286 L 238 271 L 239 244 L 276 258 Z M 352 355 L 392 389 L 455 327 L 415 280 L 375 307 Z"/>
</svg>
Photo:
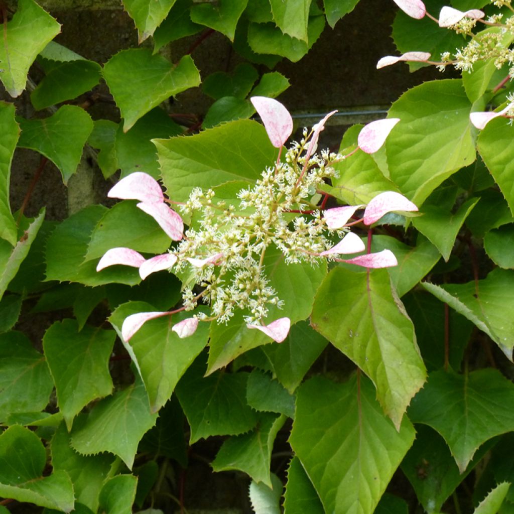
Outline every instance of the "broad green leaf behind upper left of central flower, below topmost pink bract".
<svg viewBox="0 0 514 514">
<path fill-rule="evenodd" d="M 154 144 L 164 185 L 176 201 L 186 201 L 195 187 L 208 189 L 231 180 L 252 183 L 277 159 L 264 126 L 251 120 L 191 137 L 155 139 Z"/>
</svg>

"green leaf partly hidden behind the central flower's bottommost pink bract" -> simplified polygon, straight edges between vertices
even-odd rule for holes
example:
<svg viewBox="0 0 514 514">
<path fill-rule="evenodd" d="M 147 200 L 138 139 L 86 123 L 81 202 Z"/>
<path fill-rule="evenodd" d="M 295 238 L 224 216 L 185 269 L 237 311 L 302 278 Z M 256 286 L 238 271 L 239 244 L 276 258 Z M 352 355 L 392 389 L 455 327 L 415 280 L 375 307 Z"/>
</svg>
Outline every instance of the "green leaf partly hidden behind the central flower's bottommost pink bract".
<svg viewBox="0 0 514 514">
<path fill-rule="evenodd" d="M 325 277 L 326 263 L 317 267 L 300 263 L 286 264 L 280 250 L 269 248 L 264 258 L 264 266 L 269 285 L 277 291 L 277 296 L 286 306 L 285 309 L 272 306 L 268 319 L 272 321 L 287 316 L 291 324 L 306 319 L 313 307 L 314 294 Z M 251 348 L 270 341 L 262 332 L 247 328 L 241 311 L 226 325 L 213 323 L 210 338 L 208 373 L 222 368 Z"/>
</svg>

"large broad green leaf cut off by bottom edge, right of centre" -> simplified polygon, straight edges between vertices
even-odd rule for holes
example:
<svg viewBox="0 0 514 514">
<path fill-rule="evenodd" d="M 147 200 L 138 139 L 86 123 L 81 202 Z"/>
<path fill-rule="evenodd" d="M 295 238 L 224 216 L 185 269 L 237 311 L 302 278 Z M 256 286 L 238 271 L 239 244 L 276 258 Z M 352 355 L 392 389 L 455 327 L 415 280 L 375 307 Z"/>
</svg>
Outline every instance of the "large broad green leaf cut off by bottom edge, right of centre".
<svg viewBox="0 0 514 514">
<path fill-rule="evenodd" d="M 395 429 L 363 376 L 315 377 L 298 390 L 289 441 L 326 512 L 373 512 L 414 441 L 405 417 Z"/>
</svg>

